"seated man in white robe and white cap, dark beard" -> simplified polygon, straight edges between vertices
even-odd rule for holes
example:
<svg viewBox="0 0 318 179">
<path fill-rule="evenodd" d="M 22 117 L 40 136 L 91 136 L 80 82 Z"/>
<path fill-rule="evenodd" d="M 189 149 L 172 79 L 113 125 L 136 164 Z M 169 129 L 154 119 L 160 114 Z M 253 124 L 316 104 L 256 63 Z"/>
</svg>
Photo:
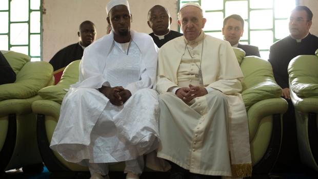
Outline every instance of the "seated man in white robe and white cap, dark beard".
<svg viewBox="0 0 318 179">
<path fill-rule="evenodd" d="M 126 178 L 139 178 L 143 155 L 157 148 L 157 47 L 130 30 L 127 0 L 106 6 L 112 31 L 85 49 L 79 82 L 65 95 L 51 148 L 66 161 L 87 165 L 91 178 L 126 161 Z M 105 175 L 105 176 L 103 176 Z"/>
</svg>

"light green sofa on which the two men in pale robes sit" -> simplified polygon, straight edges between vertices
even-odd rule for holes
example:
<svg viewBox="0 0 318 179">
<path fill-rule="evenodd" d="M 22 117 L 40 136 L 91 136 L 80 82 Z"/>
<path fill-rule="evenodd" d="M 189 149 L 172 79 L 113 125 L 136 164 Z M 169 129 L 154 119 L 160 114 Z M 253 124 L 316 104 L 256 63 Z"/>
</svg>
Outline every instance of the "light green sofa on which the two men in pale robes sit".
<svg viewBox="0 0 318 179">
<path fill-rule="evenodd" d="M 254 171 L 268 173 L 273 167 L 281 145 L 281 116 L 287 102 L 280 98 L 282 89 L 275 83 L 271 65 L 258 57 L 244 57 L 245 52 L 234 49 L 245 79 L 242 92 L 250 130 Z M 82 166 L 66 162 L 49 148 L 52 133 L 58 121 L 59 110 L 70 84 L 77 81 L 79 61 L 72 62 L 56 86 L 39 91 L 43 100 L 35 101 L 32 110 L 37 114 L 37 129 L 43 161 L 50 171 L 83 171 Z M 111 166 L 111 171 L 122 171 L 122 164 Z"/>
</svg>

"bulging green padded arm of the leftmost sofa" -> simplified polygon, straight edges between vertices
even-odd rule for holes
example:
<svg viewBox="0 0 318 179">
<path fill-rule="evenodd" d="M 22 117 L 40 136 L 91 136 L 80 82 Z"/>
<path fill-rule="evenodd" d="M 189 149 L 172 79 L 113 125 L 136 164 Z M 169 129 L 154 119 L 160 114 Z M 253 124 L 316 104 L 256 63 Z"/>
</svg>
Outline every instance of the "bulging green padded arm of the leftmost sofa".
<svg viewBox="0 0 318 179">
<path fill-rule="evenodd" d="M 0 85 L 0 101 L 25 99 L 37 94 L 48 85 L 52 78 L 53 67 L 47 62 L 27 62 L 16 74 L 16 81 Z"/>
</svg>

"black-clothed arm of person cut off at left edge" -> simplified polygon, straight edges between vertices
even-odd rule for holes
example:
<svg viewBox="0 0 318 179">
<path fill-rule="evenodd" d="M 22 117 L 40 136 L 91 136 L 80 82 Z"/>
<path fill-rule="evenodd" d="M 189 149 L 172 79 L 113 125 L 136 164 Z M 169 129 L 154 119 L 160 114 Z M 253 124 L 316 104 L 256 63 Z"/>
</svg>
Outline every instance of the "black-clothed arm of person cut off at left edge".
<svg viewBox="0 0 318 179">
<path fill-rule="evenodd" d="M 16 74 L 11 68 L 5 56 L 0 51 L 0 85 L 14 83 Z"/>
</svg>

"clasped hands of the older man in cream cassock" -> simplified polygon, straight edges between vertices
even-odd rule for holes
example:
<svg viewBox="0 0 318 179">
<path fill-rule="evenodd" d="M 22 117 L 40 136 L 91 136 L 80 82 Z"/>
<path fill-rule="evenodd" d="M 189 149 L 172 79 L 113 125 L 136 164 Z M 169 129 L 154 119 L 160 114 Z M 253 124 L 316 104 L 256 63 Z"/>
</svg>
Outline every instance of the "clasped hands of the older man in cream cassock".
<svg viewBox="0 0 318 179">
<path fill-rule="evenodd" d="M 175 94 L 181 98 L 183 102 L 189 104 L 195 97 L 206 95 L 208 92 L 204 87 L 189 85 L 189 87 L 182 87 L 178 89 Z"/>
</svg>

